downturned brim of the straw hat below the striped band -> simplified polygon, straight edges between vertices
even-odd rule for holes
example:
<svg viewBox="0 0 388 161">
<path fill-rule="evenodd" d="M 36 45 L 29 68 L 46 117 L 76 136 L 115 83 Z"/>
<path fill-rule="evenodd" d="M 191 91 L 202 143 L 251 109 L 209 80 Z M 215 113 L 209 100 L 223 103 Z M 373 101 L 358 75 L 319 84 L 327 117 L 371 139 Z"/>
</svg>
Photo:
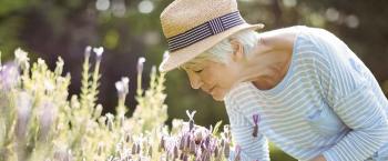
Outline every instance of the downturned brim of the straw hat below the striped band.
<svg viewBox="0 0 388 161">
<path fill-rule="evenodd" d="M 243 23 L 236 27 L 233 27 L 224 32 L 221 32 L 218 34 L 208 37 L 204 40 L 201 40 L 196 43 L 193 43 L 186 48 L 176 50 L 171 52 L 164 60 L 162 61 L 161 66 L 159 67 L 159 70 L 161 72 L 167 72 L 171 71 L 185 62 L 192 60 L 193 58 L 197 57 L 198 54 L 205 52 L 206 50 L 211 49 L 213 46 L 217 44 L 225 38 L 242 31 L 242 30 L 258 30 L 263 29 L 264 24 L 258 23 L 258 24 L 248 24 L 248 23 Z"/>
</svg>

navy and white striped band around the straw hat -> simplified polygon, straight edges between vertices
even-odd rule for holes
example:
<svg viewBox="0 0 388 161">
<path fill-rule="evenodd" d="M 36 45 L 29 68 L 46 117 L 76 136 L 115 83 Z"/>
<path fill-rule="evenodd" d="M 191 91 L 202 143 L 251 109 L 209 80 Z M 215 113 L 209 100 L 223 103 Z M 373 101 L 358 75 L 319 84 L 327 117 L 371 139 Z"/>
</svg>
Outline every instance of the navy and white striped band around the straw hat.
<svg viewBox="0 0 388 161">
<path fill-rule="evenodd" d="M 224 14 L 187 30 L 186 32 L 167 38 L 169 49 L 172 52 L 185 48 L 242 23 L 245 23 L 245 20 L 241 17 L 238 11 Z"/>
</svg>

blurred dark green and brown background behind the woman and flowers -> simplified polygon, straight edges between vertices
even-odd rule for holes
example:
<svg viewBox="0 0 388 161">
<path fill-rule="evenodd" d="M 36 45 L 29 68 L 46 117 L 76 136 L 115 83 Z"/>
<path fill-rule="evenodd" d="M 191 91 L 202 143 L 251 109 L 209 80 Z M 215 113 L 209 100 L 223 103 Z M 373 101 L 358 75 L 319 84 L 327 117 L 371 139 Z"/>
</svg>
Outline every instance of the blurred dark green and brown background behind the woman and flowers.
<svg viewBox="0 0 388 161">
<path fill-rule="evenodd" d="M 54 68 L 58 57 L 72 76 L 70 93 L 79 93 L 81 64 L 86 46 L 104 47 L 99 102 L 104 112 L 116 105 L 114 82 L 135 78 L 136 61 L 145 57 L 144 88 L 152 66 L 159 66 L 167 49 L 160 13 L 172 0 L 0 0 L 0 51 L 2 61 L 18 47 L 43 58 Z M 327 29 L 344 40 L 369 67 L 388 94 L 388 1 L 386 0 L 238 0 L 242 16 L 251 23 L 263 22 L 266 30 L 289 26 Z M 92 58 L 93 59 L 93 58 Z M 136 102 L 135 79 L 131 79 L 126 104 Z M 170 121 L 186 119 L 185 110 L 196 110 L 197 124 L 208 127 L 227 115 L 223 102 L 192 90 L 186 74 L 167 74 L 166 103 Z M 131 113 L 130 113 L 131 114 Z M 272 147 L 272 160 L 293 160 Z"/>
</svg>

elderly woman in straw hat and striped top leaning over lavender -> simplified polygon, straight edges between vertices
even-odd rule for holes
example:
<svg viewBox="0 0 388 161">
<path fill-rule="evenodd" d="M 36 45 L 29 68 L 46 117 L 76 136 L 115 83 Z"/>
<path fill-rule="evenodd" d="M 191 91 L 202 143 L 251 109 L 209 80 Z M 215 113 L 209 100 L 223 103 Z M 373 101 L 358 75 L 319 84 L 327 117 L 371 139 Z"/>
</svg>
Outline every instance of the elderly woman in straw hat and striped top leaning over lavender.
<svg viewBox="0 0 388 161">
<path fill-rule="evenodd" d="M 267 139 L 298 160 L 388 160 L 387 98 L 330 32 L 257 33 L 264 26 L 246 23 L 235 0 L 175 0 L 161 22 L 160 70 L 182 68 L 193 89 L 225 101 L 242 160 L 269 160 Z"/>
</svg>

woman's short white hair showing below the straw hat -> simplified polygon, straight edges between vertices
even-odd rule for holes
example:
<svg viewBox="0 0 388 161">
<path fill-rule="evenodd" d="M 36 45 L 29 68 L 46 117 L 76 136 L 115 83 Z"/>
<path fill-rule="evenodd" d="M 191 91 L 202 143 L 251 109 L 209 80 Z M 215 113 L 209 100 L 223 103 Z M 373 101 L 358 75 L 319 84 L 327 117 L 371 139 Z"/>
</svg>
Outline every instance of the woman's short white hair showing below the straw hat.
<svg viewBox="0 0 388 161">
<path fill-rule="evenodd" d="M 200 56 L 195 57 L 191 61 L 184 63 L 182 68 L 185 69 L 186 67 L 196 64 L 204 60 L 228 63 L 231 61 L 231 54 L 234 52 L 231 44 L 231 39 L 236 39 L 243 46 L 245 57 L 247 57 L 251 53 L 251 51 L 253 50 L 253 48 L 255 48 L 259 40 L 258 33 L 254 30 L 239 31 L 222 40 L 221 42 L 206 50 L 205 52 L 201 53 Z"/>
</svg>

